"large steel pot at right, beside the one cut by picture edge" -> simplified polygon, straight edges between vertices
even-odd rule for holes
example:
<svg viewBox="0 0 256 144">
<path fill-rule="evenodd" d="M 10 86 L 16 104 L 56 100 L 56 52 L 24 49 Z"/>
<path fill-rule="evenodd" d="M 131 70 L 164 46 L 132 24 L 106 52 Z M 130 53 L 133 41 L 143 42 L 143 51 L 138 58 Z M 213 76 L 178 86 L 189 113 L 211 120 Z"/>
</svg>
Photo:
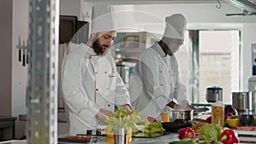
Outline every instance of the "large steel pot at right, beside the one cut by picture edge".
<svg viewBox="0 0 256 144">
<path fill-rule="evenodd" d="M 239 113 L 244 113 L 246 110 L 251 112 L 253 110 L 252 95 L 249 95 L 249 92 L 233 92 L 232 105 Z"/>
</svg>

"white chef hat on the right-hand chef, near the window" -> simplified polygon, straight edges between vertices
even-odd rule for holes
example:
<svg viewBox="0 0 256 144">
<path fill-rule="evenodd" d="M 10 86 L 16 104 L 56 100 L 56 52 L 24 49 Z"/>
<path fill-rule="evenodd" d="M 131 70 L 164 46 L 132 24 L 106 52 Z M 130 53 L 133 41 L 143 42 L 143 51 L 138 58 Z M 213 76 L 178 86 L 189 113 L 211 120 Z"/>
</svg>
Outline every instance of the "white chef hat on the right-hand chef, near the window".
<svg viewBox="0 0 256 144">
<path fill-rule="evenodd" d="M 166 29 L 163 37 L 184 39 L 187 21 L 183 14 L 172 14 L 166 17 Z"/>
</svg>

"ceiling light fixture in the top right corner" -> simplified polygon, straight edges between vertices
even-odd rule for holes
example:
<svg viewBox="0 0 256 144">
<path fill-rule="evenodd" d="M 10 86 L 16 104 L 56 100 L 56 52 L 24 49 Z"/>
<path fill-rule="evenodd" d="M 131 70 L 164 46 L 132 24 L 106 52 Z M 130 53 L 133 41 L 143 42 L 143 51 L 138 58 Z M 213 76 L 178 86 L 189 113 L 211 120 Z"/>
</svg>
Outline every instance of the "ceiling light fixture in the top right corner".
<svg viewBox="0 0 256 144">
<path fill-rule="evenodd" d="M 248 12 L 256 12 L 256 5 L 247 0 L 226 0 L 227 2 L 235 5 L 236 7 L 247 10 Z"/>
</svg>

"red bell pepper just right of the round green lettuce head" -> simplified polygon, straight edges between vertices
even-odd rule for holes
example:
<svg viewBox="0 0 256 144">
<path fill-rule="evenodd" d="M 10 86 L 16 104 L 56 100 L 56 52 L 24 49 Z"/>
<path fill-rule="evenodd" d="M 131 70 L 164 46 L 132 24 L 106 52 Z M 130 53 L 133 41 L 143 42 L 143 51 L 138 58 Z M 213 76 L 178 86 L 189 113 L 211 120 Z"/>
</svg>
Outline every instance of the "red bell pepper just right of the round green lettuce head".
<svg viewBox="0 0 256 144">
<path fill-rule="evenodd" d="M 224 144 L 239 143 L 239 138 L 234 130 L 224 130 L 220 135 L 220 141 Z"/>
</svg>

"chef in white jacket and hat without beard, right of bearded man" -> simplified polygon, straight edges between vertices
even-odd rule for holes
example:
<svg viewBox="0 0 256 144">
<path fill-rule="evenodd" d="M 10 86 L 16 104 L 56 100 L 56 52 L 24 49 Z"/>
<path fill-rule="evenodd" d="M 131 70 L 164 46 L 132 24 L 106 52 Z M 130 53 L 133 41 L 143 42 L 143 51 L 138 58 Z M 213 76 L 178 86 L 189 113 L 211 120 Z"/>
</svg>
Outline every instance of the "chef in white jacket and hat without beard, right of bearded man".
<svg viewBox="0 0 256 144">
<path fill-rule="evenodd" d="M 183 44 L 186 19 L 183 14 L 166 17 L 166 29 L 160 42 L 145 49 L 139 56 L 131 78 L 131 105 L 141 113 L 160 120 L 165 107 L 194 108 L 189 105 L 186 89 L 178 78 L 174 53 Z"/>
</svg>

